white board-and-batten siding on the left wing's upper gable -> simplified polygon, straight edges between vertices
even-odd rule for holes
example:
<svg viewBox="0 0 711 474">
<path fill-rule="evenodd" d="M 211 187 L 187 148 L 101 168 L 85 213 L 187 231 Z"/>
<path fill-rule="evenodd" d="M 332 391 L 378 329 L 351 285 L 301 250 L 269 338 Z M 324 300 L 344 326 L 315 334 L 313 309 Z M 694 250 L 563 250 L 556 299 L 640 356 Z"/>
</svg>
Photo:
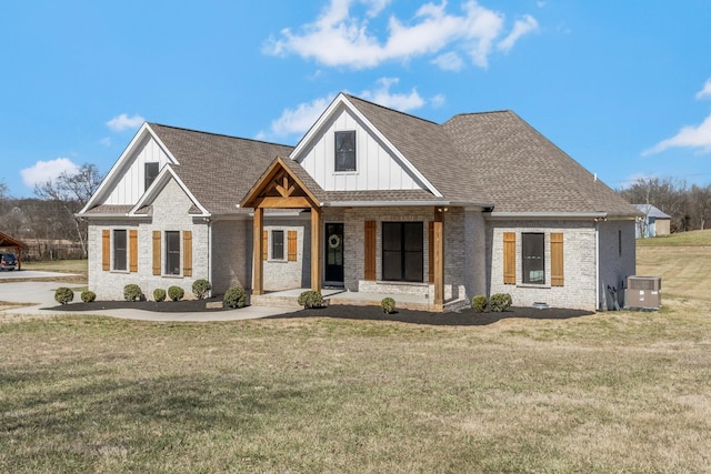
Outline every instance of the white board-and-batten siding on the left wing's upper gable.
<svg viewBox="0 0 711 474">
<path fill-rule="evenodd" d="M 152 138 L 148 138 L 138 148 L 138 151 L 129 160 L 128 169 L 122 173 L 121 180 L 107 196 L 104 204 L 128 205 L 136 204 L 146 191 L 143 185 L 146 163 L 158 162 L 159 170 L 170 160 L 163 149 Z"/>
</svg>

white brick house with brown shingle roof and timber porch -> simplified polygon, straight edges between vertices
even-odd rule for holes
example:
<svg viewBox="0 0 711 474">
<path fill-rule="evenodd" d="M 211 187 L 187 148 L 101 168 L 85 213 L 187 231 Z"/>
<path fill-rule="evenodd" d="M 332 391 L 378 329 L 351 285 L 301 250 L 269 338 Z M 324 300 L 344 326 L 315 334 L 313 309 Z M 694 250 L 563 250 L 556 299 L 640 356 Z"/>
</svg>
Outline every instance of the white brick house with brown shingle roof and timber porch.
<svg viewBox="0 0 711 474">
<path fill-rule="evenodd" d="M 146 123 L 78 214 L 89 288 L 324 285 L 611 307 L 638 211 L 511 111 L 439 124 L 341 93 L 296 148 Z"/>
</svg>

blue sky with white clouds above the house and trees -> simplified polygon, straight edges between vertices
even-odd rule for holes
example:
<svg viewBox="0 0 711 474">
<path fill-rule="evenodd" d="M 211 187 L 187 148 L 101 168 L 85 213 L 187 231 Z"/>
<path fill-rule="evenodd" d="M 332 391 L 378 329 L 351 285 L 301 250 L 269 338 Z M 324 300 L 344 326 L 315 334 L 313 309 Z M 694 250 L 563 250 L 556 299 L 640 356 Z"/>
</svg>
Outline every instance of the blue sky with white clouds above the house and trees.
<svg viewBox="0 0 711 474">
<path fill-rule="evenodd" d="M 144 120 L 296 144 L 347 91 L 513 110 L 612 188 L 707 184 L 709 44 L 708 0 L 7 2 L 0 182 L 107 172 Z"/>
</svg>

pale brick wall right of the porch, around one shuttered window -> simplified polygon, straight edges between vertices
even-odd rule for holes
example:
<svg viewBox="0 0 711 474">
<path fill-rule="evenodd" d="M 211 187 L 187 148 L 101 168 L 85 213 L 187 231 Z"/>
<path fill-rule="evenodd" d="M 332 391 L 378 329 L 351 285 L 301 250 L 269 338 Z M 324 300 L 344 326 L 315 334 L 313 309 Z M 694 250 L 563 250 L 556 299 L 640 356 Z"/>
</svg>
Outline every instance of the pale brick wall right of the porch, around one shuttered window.
<svg viewBox="0 0 711 474">
<path fill-rule="evenodd" d="M 503 283 L 503 233 L 515 232 L 515 284 Z M 523 284 L 521 234 L 545 234 L 545 284 Z M 551 232 L 563 233 L 563 286 L 551 286 Z M 617 239 L 617 238 L 615 238 Z M 497 221 L 488 222 L 487 262 L 489 295 L 510 293 L 517 306 L 547 303 L 551 307 L 595 311 L 595 223 L 592 221 Z"/>
</svg>

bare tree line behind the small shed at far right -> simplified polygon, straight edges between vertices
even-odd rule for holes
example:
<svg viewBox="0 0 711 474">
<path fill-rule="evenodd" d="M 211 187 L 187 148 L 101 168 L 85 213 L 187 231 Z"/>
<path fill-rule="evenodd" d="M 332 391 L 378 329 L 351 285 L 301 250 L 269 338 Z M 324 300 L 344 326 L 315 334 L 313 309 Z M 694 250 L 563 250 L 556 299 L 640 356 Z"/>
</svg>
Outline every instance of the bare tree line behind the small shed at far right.
<svg viewBox="0 0 711 474">
<path fill-rule="evenodd" d="M 618 193 L 632 204 L 651 204 L 671 215 L 671 232 L 707 229 L 711 219 L 711 184 L 689 186 L 673 178 L 642 178 Z"/>
</svg>

